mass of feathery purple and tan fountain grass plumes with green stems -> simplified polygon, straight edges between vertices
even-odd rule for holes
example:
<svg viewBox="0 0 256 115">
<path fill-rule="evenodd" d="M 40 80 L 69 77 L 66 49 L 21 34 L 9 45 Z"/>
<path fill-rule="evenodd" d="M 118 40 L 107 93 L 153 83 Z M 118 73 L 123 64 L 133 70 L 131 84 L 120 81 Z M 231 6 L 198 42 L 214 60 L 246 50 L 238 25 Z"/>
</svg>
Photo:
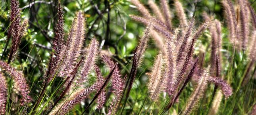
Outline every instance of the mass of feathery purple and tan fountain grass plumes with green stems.
<svg viewBox="0 0 256 115">
<path fill-rule="evenodd" d="M 225 108 L 230 103 L 236 104 L 237 100 L 243 100 L 243 98 L 247 97 L 243 97 L 241 94 L 243 92 L 247 93 L 247 89 L 242 84 L 246 84 L 248 79 L 254 75 L 255 70 L 252 72 L 251 69 L 256 60 L 256 48 L 254 48 L 256 46 L 256 34 L 254 34 L 256 17 L 248 1 L 238 0 L 235 6 L 231 0 L 223 0 L 226 21 L 222 24 L 221 21 L 213 19 L 214 16 L 210 17 L 207 13 L 203 13 L 202 16 L 205 21 L 198 27 L 196 26 L 196 17 L 187 17 L 181 2 L 178 0 L 175 0 L 173 5 L 179 19 L 179 25 L 172 25 L 173 15 L 170 12 L 172 10 L 169 8 L 167 0 L 160 0 L 160 7 L 152 0 L 148 1 L 150 9 L 157 17 L 152 16 L 150 11 L 139 0 L 131 0 L 131 3 L 137 7 L 142 16 L 130 15 L 130 17 L 146 25 L 146 29 L 133 55 L 131 55 L 133 57 L 130 60 L 132 61 L 131 71 L 123 73 L 118 63 L 115 63 L 112 59 L 118 62 L 126 62 L 127 60 L 117 60 L 116 55 L 111 57 L 100 55 L 102 46 L 100 46 L 96 37 L 87 38 L 90 39 L 89 44 L 87 44 L 88 42 L 85 39 L 87 24 L 83 12 L 79 11 L 75 14 L 75 19 L 67 38 L 65 38 L 64 12 L 60 1 L 58 1 L 57 22 L 52 46 L 53 52 L 50 56 L 48 69 L 44 74 L 45 79 L 42 84 L 42 90 L 39 94 L 36 94 L 37 98 L 34 100 L 29 95 L 30 88 L 23 72 L 9 65 L 15 59 L 23 33 L 28 27 L 27 20 L 21 23 L 19 2 L 11 0 L 10 21 L 12 23 L 8 31 L 8 38 L 12 38 L 12 47 L 10 48 L 8 63 L 0 61 L 0 113 L 9 114 L 6 111 L 18 108 L 21 114 L 26 114 L 27 110 L 29 110 L 29 114 L 35 115 L 45 113 L 64 115 L 74 110 L 77 104 L 86 102 L 86 105 L 81 107 L 81 114 L 88 111 L 92 112 L 92 114 L 103 111 L 102 113 L 104 114 L 113 115 L 123 114 L 126 110 L 133 113 L 138 111 L 139 114 L 143 112 L 147 114 L 148 110 L 151 109 L 150 114 L 158 112 L 161 115 L 170 110 L 173 115 L 177 114 L 177 112 L 182 115 L 188 115 L 192 114 L 197 108 L 201 110 L 198 106 L 200 105 L 200 100 L 205 97 L 201 107 L 208 105 L 208 108 L 206 108 L 209 109 L 206 110 L 208 114 L 215 115 L 223 112 L 219 111 L 223 104 L 223 96 L 225 96 L 226 100 L 225 104 L 223 104 Z M 249 13 L 251 17 L 248 17 Z M 249 20 L 250 18 L 252 19 L 251 21 Z M 231 58 L 226 50 L 226 55 L 223 56 L 228 56 L 227 59 L 230 59 L 231 63 L 223 63 L 224 59 L 222 58 L 223 50 L 221 49 L 222 45 L 225 45 L 222 44 L 222 35 L 225 35 L 222 33 L 222 27 L 225 25 L 228 27 L 228 38 L 231 40 L 233 47 L 231 47 Z M 210 53 L 209 55 L 207 54 L 208 49 L 204 53 L 210 59 L 204 59 L 204 55 L 198 55 L 198 52 L 196 52 L 196 42 L 200 41 L 198 39 L 201 36 L 208 35 L 208 33 L 204 33 L 207 29 L 211 38 L 211 42 L 207 43 Z M 135 101 L 141 100 L 140 95 L 138 95 L 137 100 L 129 97 L 139 73 L 137 71 L 144 64 L 145 52 L 148 47 L 151 47 L 148 45 L 151 43 L 149 42 L 150 36 L 154 40 L 152 43 L 156 44 L 160 51 L 153 61 L 152 70 L 145 75 L 148 77 L 147 90 L 143 90 L 141 93 L 147 92 L 148 95 L 142 96 L 145 97 L 142 103 L 137 103 Z M 249 40 L 252 43 L 248 42 Z M 102 44 L 104 45 L 103 41 Z M 200 49 L 204 50 L 203 47 Z M 240 49 L 243 51 L 243 56 L 241 59 L 237 59 L 236 57 L 241 56 Z M 81 53 L 83 50 L 86 51 L 85 54 Z M 244 63 L 247 64 L 245 70 L 241 69 L 244 67 Z M 101 73 L 101 65 L 105 65 L 104 67 L 109 70 L 106 77 Z M 202 71 L 205 65 L 208 65 L 208 67 Z M 222 70 L 222 67 L 225 67 L 225 69 Z M 233 73 L 235 75 L 232 75 Z M 243 74 L 242 77 L 241 73 Z M 233 76 L 238 76 L 238 78 Z M 95 81 L 93 81 L 93 77 L 96 77 Z M 232 80 L 233 78 L 235 80 Z M 196 81 L 192 81 L 189 84 L 191 79 L 196 79 Z M 237 80 L 239 80 L 238 83 Z M 12 84 L 12 81 L 14 81 L 14 84 Z M 56 85 L 57 81 L 59 82 L 58 85 Z M 210 83 L 215 85 L 214 89 Z M 196 84 L 196 86 L 193 86 L 193 84 Z M 9 93 L 8 85 L 21 96 L 20 103 L 15 103 L 17 107 L 7 105 L 10 103 L 9 98 L 12 98 L 9 96 L 11 93 Z M 205 92 L 209 94 L 206 95 Z M 187 96 L 190 93 L 191 95 Z M 241 95 L 242 97 L 238 98 Z M 188 98 L 188 100 L 185 98 Z M 85 99 L 87 100 L 84 101 Z M 95 101 L 96 104 L 94 106 Z M 151 101 L 150 105 L 146 105 L 148 101 Z M 245 101 L 248 102 L 250 99 Z M 152 102 L 154 102 L 154 105 L 151 105 Z M 184 103 L 185 105 L 183 106 Z M 156 107 L 155 104 L 159 106 Z M 136 108 L 131 109 L 138 105 L 141 106 L 139 110 Z M 180 106 L 183 106 L 182 109 L 180 109 Z M 235 111 L 235 105 L 233 106 L 231 108 Z M 171 109 L 171 107 L 173 108 Z M 255 107 L 250 107 L 250 109 L 252 109 L 250 113 L 253 115 Z"/>
</svg>

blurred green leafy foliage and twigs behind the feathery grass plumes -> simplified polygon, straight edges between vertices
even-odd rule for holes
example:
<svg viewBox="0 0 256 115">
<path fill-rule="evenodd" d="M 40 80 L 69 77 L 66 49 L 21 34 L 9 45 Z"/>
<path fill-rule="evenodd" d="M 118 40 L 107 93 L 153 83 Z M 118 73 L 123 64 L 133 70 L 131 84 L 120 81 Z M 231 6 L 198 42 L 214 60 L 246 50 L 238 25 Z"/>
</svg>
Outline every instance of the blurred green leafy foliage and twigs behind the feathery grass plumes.
<svg viewBox="0 0 256 115">
<path fill-rule="evenodd" d="M 147 4 L 148 0 L 140 1 Z M 216 19 L 222 22 L 224 20 L 224 12 L 220 0 L 180 1 L 183 4 L 188 19 L 191 19 L 193 16 L 195 17 L 196 25 L 203 22 L 202 12 L 214 15 Z M 256 9 L 255 1 L 250 0 L 254 9 Z M 42 81 L 40 78 L 45 73 L 52 52 L 51 44 L 54 37 L 54 24 L 56 22 L 56 18 L 54 17 L 56 17 L 58 0 L 19 0 L 19 3 L 22 10 L 21 17 L 23 19 L 29 19 L 29 29 L 25 37 L 22 38 L 17 60 L 12 65 L 23 70 L 23 73 L 27 75 L 27 80 L 32 86 L 31 95 L 35 96 L 40 90 L 37 83 Z M 64 31 L 66 33 L 69 31 L 75 13 L 81 10 L 86 17 L 87 23 L 86 42 L 84 46 L 86 47 L 90 39 L 95 36 L 100 41 L 102 53 L 111 55 L 119 63 L 123 75 L 129 73 L 133 51 L 144 30 L 144 25 L 129 18 L 129 14 L 140 15 L 135 6 L 128 0 L 61 0 L 61 3 L 64 7 Z M 156 3 L 159 4 L 159 1 L 156 0 Z M 10 40 L 7 39 L 7 30 L 10 25 L 8 19 L 10 13 L 9 5 L 8 0 L 0 0 L 0 56 L 1 59 L 5 60 L 8 58 L 8 52 L 11 46 Z M 172 12 L 171 16 L 173 17 L 172 24 L 178 27 L 179 21 L 173 11 L 172 0 L 169 0 L 169 6 Z M 225 25 L 225 21 L 223 25 Z M 230 50 L 227 50 L 231 47 L 231 44 L 228 42 L 226 27 L 223 27 L 223 33 L 223 50 L 221 51 L 225 59 L 225 57 L 230 57 L 231 55 Z M 206 52 L 209 51 L 209 41 L 210 35 L 206 32 L 199 39 L 195 53 L 198 54 L 200 48 L 206 49 Z M 150 40 L 148 46 L 145 59 L 135 81 L 136 84 L 131 92 L 131 98 L 129 98 L 130 102 L 134 102 L 130 103 L 134 104 L 131 106 L 134 109 L 126 109 L 139 111 L 136 109 L 139 109 L 142 99 L 146 97 L 144 95 L 146 94 L 146 73 L 152 67 L 154 57 L 158 54 L 156 44 L 153 40 Z M 6 49 L 5 52 L 4 49 Z M 210 61 L 209 57 L 210 53 L 206 53 L 206 62 Z M 227 61 L 227 59 L 224 61 Z M 228 65 L 223 65 L 223 67 L 225 70 L 228 69 L 225 68 Z M 191 92 L 186 93 L 188 94 L 183 95 L 189 96 Z M 180 105 L 185 104 L 183 101 L 186 102 L 186 100 L 182 100 Z"/>
</svg>

